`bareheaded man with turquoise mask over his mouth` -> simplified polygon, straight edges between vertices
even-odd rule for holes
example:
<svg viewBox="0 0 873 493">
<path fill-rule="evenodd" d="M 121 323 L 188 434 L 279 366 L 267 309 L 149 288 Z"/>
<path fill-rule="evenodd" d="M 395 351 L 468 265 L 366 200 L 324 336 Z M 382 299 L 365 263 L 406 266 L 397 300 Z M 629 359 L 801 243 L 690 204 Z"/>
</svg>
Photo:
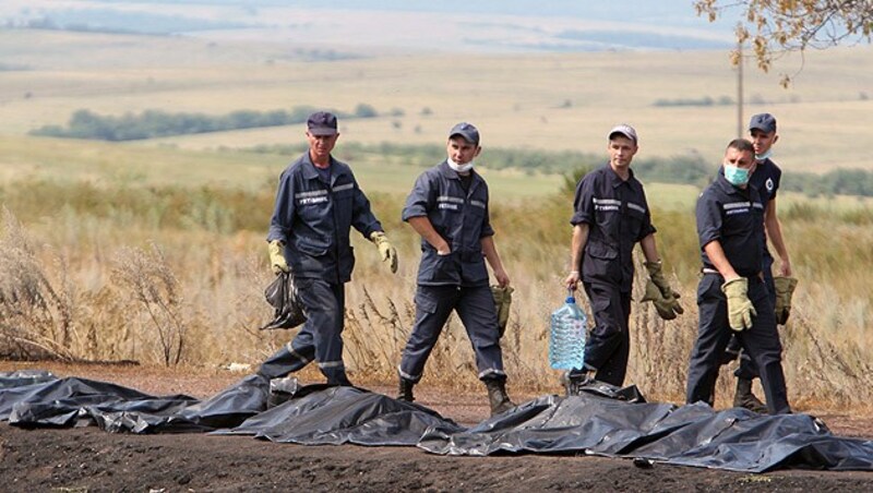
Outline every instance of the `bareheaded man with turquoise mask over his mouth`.
<svg viewBox="0 0 873 493">
<path fill-rule="evenodd" d="M 782 346 L 762 274 L 764 205 L 749 185 L 752 143 L 737 139 L 725 152 L 716 181 L 697 200 L 703 277 L 697 286 L 699 327 L 691 354 L 686 400 L 713 404 L 719 359 L 737 335 L 760 370 L 767 408 L 791 412 L 782 373 Z"/>
</svg>

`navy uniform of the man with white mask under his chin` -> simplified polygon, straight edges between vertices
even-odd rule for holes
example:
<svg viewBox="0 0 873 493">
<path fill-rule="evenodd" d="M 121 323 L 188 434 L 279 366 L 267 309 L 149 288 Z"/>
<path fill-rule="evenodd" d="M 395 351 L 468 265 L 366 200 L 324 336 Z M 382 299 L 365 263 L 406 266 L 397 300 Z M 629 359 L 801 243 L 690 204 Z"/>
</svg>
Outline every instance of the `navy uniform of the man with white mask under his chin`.
<svg viewBox="0 0 873 493">
<path fill-rule="evenodd" d="M 403 220 L 427 217 L 452 249 L 447 255 L 421 239 L 416 323 L 403 351 L 400 376 L 418 382 L 445 321 L 456 311 L 476 353 L 480 380 L 505 380 L 494 298 L 488 286 L 481 239 L 494 235 L 488 184 L 475 171 L 463 179 L 446 161 L 416 180 Z"/>
</svg>

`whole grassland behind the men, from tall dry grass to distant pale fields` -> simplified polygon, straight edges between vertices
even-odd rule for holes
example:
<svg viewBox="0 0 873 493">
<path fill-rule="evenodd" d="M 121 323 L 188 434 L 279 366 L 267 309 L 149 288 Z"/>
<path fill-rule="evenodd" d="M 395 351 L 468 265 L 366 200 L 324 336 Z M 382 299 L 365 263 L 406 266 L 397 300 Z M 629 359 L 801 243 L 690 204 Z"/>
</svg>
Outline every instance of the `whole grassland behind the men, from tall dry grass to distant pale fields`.
<svg viewBox="0 0 873 493">
<path fill-rule="evenodd" d="M 271 316 L 262 292 L 271 280 L 264 231 L 275 181 L 296 156 L 241 149 L 301 143 L 302 125 L 128 143 L 26 135 L 64 123 L 80 108 L 220 115 L 299 105 L 350 111 L 366 103 L 402 110 L 340 122 L 340 156 L 345 142 L 441 143 L 458 120 L 481 128 L 486 154 L 488 146 L 601 154 L 606 129 L 630 121 L 641 133 L 641 156 L 698 154 L 715 169 L 736 133 L 733 107 L 653 105 L 732 96 L 734 74 L 723 53 L 393 53 L 310 63 L 282 53 L 274 45 L 0 29 L 0 309 L 7 310 L 0 327 L 7 344 L 64 358 L 160 364 L 178 354 L 181 364 L 219 365 L 255 364 L 290 337 L 254 327 Z M 768 103 L 746 112 L 768 110 L 784 122 L 777 159 L 787 172 L 873 170 L 873 157 L 859 144 L 873 123 L 864 95 L 873 86 L 871 61 L 869 48 L 811 53 L 788 92 L 775 76 L 750 71 L 746 94 Z M 399 211 L 421 169 L 378 155 L 361 155 L 352 166 L 400 252 L 400 269 L 387 274 L 372 245 L 355 236 L 346 356 L 357 382 L 387 382 L 411 326 L 419 255 Z M 547 321 L 564 296 L 571 197 L 562 195 L 560 176 L 482 172 L 498 248 L 517 289 L 504 340 L 511 385 L 557 389 L 546 360 Z M 696 332 L 693 204 L 699 190 L 646 189 L 686 314 L 665 324 L 635 304 L 629 381 L 655 399 L 681 401 Z M 862 406 L 873 397 L 864 268 L 873 265 L 871 203 L 786 193 L 779 207 L 801 279 L 782 332 L 791 399 L 801 407 Z M 13 291 L 24 298 L 10 297 Z M 29 301 L 5 303 L 22 299 Z M 426 383 L 479 385 L 455 320 Z M 722 400 L 729 386 L 725 375 Z"/>
</svg>

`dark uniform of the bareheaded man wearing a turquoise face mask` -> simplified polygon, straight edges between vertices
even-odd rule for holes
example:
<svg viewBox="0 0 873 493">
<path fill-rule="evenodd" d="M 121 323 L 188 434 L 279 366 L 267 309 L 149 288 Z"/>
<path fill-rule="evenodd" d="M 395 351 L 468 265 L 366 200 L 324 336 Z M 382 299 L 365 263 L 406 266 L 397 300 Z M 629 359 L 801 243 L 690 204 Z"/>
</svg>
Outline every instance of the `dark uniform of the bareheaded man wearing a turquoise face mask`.
<svg viewBox="0 0 873 493">
<path fill-rule="evenodd" d="M 776 332 L 776 316 L 761 273 L 764 241 L 764 205 L 754 187 L 739 189 L 723 175 L 697 200 L 697 236 L 701 243 L 703 276 L 697 286 L 699 326 L 691 353 L 686 400 L 711 404 L 718 376 L 719 358 L 732 334 L 761 369 L 761 383 L 772 414 L 790 412 L 782 373 L 782 346 Z M 757 315 L 752 328 L 734 332 L 728 324 L 728 302 L 721 291 L 725 279 L 709 262 L 704 246 L 721 244 L 733 269 L 749 280 L 749 299 Z"/>
</svg>

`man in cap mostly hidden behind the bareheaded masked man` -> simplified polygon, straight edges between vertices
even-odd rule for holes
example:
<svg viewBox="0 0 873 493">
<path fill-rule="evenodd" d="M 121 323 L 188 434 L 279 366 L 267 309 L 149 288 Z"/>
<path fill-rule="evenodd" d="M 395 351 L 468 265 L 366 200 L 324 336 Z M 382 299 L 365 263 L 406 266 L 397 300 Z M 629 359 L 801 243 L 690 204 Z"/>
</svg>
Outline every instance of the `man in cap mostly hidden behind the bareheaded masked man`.
<svg viewBox="0 0 873 493">
<path fill-rule="evenodd" d="M 776 306 L 776 322 L 777 324 L 785 324 L 788 320 L 790 302 L 788 306 L 785 306 L 785 298 L 777 298 L 777 286 L 773 277 L 774 258 L 769 249 L 767 249 L 767 239 L 769 239 L 781 261 L 779 276 L 776 279 L 780 291 L 786 289 L 791 291 L 787 293 L 790 300 L 793 288 L 797 286 L 797 280 L 791 278 L 791 261 L 788 257 L 788 249 L 782 238 L 781 224 L 776 215 L 776 192 L 779 190 L 782 171 L 770 159 L 773 145 L 779 140 L 779 135 L 776 133 L 776 118 L 770 113 L 753 116 L 749 121 L 749 133 L 755 149 L 755 165 L 749 179 L 749 184 L 757 189 L 761 194 L 761 203 L 764 205 L 765 238 L 762 272 L 764 273 L 764 282 L 767 285 L 770 303 Z M 736 359 L 741 352 L 739 339 L 731 337 L 728 349 L 725 351 L 725 358 L 721 360 L 722 363 Z M 742 353 L 740 368 L 737 369 L 734 375 L 737 376 L 737 392 L 733 396 L 733 406 L 756 412 L 766 412 L 767 407 L 752 393 L 752 381 L 757 377 L 757 369 L 755 369 L 748 353 Z"/>
</svg>

